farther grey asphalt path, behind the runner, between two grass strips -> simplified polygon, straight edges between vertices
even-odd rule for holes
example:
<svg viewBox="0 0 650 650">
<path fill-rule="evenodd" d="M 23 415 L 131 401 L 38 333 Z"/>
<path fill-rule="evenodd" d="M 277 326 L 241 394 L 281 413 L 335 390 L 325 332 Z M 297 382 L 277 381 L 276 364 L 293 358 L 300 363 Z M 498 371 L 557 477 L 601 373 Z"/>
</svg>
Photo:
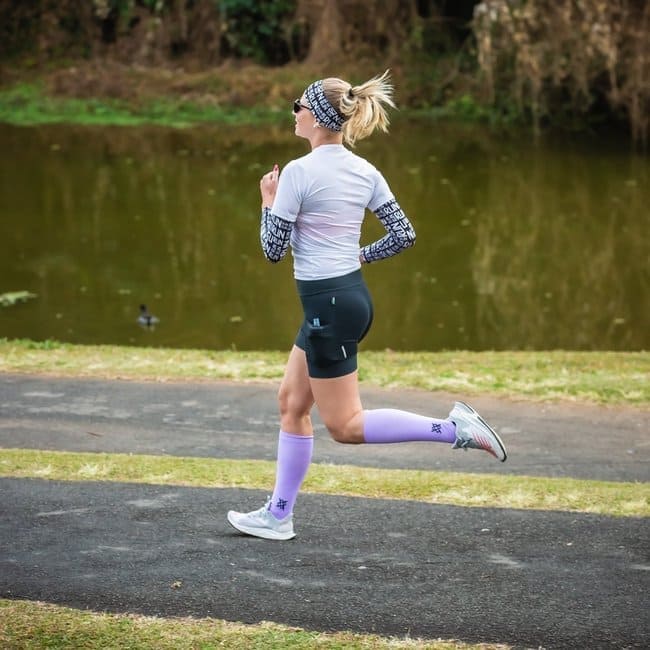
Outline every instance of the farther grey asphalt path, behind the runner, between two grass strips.
<svg viewBox="0 0 650 650">
<path fill-rule="evenodd" d="M 274 460 L 274 384 L 146 383 L 0 374 L 0 446 Z M 454 399 L 364 387 L 366 408 L 447 417 Z M 467 399 L 502 436 L 506 463 L 449 445 L 341 445 L 318 419 L 314 462 L 611 481 L 650 479 L 650 413 Z"/>
</svg>

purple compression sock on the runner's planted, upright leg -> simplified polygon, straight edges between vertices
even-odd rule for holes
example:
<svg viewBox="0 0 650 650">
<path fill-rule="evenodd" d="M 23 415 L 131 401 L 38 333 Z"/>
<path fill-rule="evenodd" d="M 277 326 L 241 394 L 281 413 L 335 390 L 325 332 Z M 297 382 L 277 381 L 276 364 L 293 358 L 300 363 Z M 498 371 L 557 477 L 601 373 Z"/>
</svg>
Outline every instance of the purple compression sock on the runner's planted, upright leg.
<svg viewBox="0 0 650 650">
<path fill-rule="evenodd" d="M 269 511 L 276 519 L 284 519 L 293 512 L 298 490 L 307 474 L 314 436 L 299 436 L 280 431 L 275 488 Z"/>
</svg>

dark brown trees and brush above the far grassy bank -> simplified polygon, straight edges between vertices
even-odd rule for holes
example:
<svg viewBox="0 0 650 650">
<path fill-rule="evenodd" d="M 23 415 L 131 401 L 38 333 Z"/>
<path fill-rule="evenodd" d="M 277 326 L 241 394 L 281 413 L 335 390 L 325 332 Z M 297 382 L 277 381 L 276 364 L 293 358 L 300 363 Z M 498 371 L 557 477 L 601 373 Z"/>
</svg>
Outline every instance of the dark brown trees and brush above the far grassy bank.
<svg viewBox="0 0 650 650">
<path fill-rule="evenodd" d="M 232 59 L 349 77 L 391 67 L 397 81 L 418 79 L 401 84 L 402 106 L 537 128 L 627 122 L 647 144 L 648 32 L 642 0 L 24 0 L 0 2 L 0 63 L 14 76 L 16 59 L 88 59 L 98 76 L 107 63 L 195 71 Z"/>
</svg>

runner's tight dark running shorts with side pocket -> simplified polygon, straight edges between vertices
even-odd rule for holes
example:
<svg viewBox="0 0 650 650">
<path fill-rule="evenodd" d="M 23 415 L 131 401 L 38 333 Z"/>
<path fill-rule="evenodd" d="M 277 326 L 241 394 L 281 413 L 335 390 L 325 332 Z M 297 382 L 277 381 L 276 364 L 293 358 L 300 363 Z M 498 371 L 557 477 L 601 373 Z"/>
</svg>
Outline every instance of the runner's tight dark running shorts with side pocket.
<svg viewBox="0 0 650 650">
<path fill-rule="evenodd" d="M 361 271 L 325 280 L 297 280 L 305 320 L 296 345 L 309 376 L 342 377 L 357 369 L 357 344 L 372 323 L 372 300 Z"/>
</svg>

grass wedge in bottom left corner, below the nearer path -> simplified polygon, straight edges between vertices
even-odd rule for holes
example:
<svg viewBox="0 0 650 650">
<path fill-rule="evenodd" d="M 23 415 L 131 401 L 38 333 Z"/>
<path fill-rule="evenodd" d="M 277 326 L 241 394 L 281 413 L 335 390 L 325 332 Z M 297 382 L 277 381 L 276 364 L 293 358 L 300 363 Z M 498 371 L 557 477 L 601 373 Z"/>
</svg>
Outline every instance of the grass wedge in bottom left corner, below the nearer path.
<svg viewBox="0 0 650 650">
<path fill-rule="evenodd" d="M 510 646 L 386 638 L 350 632 L 310 632 L 263 622 L 157 618 L 79 611 L 42 602 L 0 599 L 0 646 L 5 650 L 184 650 L 185 648 L 404 648 L 411 650 L 506 650 Z"/>
</svg>

